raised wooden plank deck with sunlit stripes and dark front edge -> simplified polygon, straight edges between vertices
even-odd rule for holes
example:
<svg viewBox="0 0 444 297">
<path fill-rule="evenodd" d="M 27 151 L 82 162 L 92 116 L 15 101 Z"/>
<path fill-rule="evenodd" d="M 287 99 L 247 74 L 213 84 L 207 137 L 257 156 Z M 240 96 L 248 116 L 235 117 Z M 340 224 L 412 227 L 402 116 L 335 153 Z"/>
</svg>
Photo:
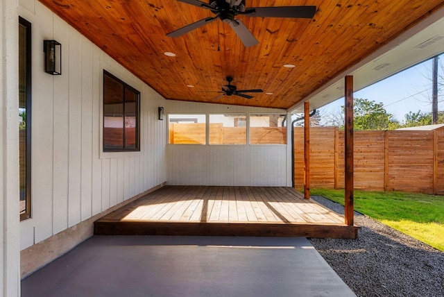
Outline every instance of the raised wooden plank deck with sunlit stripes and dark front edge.
<svg viewBox="0 0 444 297">
<path fill-rule="evenodd" d="M 96 235 L 355 239 L 358 229 L 290 187 L 166 186 L 94 223 Z"/>
</svg>

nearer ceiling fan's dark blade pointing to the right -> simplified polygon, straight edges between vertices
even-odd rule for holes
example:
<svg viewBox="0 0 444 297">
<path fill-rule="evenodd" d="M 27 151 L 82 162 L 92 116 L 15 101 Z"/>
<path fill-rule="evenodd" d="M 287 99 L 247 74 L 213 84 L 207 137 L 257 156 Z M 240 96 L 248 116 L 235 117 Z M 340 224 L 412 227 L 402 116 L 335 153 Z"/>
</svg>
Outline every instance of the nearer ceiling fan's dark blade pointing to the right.
<svg viewBox="0 0 444 297">
<path fill-rule="evenodd" d="M 278 7 L 253 7 L 239 14 L 248 17 L 298 17 L 311 19 L 316 13 L 316 6 L 278 6 Z"/>
</svg>

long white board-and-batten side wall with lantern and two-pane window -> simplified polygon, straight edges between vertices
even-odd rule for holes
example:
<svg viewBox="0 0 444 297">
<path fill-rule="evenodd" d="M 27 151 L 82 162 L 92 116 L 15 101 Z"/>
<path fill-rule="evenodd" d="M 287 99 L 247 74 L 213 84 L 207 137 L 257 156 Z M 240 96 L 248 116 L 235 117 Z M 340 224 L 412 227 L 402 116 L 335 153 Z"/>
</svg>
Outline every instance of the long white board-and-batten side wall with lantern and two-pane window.
<svg viewBox="0 0 444 297">
<path fill-rule="evenodd" d="M 33 47 L 32 219 L 20 223 L 24 249 L 166 182 L 167 172 L 166 129 L 157 119 L 165 100 L 40 2 L 20 0 L 19 15 L 32 24 Z M 44 73 L 43 40 L 51 39 L 62 44 L 61 76 Z M 141 92 L 139 153 L 101 153 L 103 69 Z"/>
</svg>

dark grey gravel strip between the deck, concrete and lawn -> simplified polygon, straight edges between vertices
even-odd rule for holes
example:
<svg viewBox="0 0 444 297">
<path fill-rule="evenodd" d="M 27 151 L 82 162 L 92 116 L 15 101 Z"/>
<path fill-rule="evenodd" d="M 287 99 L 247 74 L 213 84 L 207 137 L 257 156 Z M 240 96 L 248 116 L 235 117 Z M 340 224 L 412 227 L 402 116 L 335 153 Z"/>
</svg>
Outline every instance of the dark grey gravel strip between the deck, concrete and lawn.
<svg viewBox="0 0 444 297">
<path fill-rule="evenodd" d="M 311 198 L 344 213 L 338 203 Z M 443 252 L 358 212 L 355 225 L 357 239 L 309 241 L 357 296 L 444 296 Z"/>
</svg>

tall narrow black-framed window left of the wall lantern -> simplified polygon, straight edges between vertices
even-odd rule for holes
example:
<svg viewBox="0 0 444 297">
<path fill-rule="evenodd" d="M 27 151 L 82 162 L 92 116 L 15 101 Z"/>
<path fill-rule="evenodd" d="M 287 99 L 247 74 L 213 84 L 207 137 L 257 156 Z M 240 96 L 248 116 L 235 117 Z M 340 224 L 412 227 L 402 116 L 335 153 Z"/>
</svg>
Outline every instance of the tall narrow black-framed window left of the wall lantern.
<svg viewBox="0 0 444 297">
<path fill-rule="evenodd" d="M 19 17 L 20 221 L 31 217 L 31 23 Z"/>
</svg>

